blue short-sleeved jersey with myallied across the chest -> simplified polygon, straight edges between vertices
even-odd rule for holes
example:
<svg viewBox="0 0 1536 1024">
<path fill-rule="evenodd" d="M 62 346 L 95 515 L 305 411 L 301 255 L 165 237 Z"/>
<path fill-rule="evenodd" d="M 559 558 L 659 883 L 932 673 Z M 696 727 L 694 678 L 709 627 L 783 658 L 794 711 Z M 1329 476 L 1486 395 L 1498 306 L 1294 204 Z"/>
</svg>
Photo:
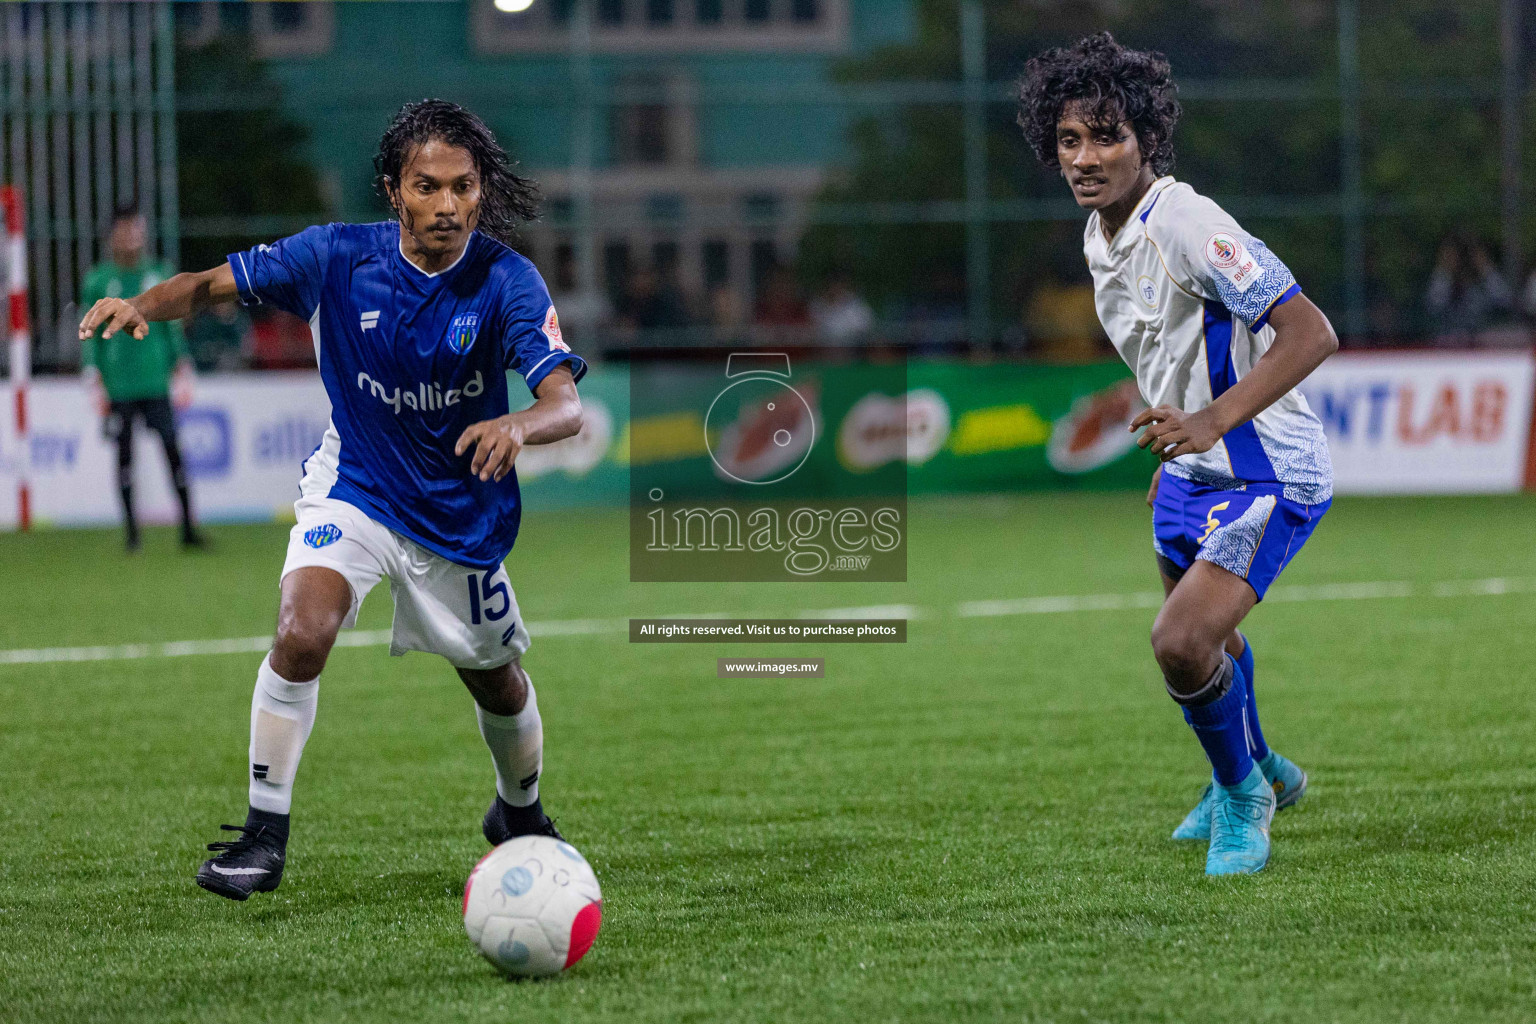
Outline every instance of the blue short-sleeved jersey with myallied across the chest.
<svg viewBox="0 0 1536 1024">
<path fill-rule="evenodd" d="M 452 562 L 493 570 L 518 537 L 516 470 L 470 474 L 470 424 L 505 416 L 507 372 L 538 388 L 587 364 L 561 339 L 533 264 L 470 235 L 458 263 L 427 273 L 399 249 L 399 226 L 326 224 L 229 256 L 240 301 L 309 321 L 330 427 L 300 490 L 356 505 Z"/>
</svg>

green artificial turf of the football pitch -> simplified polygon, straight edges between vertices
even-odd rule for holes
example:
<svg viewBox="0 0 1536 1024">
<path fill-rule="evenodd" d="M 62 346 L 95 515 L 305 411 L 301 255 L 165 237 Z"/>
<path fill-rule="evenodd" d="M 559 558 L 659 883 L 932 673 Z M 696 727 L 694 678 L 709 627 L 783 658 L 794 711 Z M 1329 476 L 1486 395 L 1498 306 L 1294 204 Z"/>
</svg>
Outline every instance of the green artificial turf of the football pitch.
<svg viewBox="0 0 1536 1024">
<path fill-rule="evenodd" d="M 1312 774 L 1253 878 L 1169 831 L 1204 761 L 1149 608 L 968 600 L 1157 590 L 1134 494 L 912 504 L 905 585 L 631 585 L 617 513 L 530 513 L 545 806 L 604 887 L 568 975 L 501 979 L 459 921 L 490 758 L 429 656 L 343 648 L 289 866 L 192 884 L 244 812 L 258 654 L 0 665 L 0 1019 L 1530 1021 L 1536 500 L 1339 499 L 1246 626 L 1273 746 Z M 284 528 L 0 536 L 0 648 L 270 631 Z M 1502 577 L 1505 594 L 1445 596 Z M 1525 590 L 1522 590 L 1525 588 Z M 564 619 L 911 603 L 905 645 L 630 645 Z M 387 588 L 362 628 L 389 623 Z M 720 680 L 720 656 L 826 659 Z"/>
</svg>

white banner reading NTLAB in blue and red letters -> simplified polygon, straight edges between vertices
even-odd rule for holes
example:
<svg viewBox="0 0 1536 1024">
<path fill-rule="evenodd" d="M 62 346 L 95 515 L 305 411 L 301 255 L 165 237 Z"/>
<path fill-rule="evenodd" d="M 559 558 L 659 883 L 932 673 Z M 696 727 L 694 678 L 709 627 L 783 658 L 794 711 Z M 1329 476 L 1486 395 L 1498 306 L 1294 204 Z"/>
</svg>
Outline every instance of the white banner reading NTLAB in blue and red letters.
<svg viewBox="0 0 1536 1024">
<path fill-rule="evenodd" d="M 1347 352 L 1301 385 L 1322 419 L 1339 494 L 1525 487 L 1530 352 Z"/>
</svg>

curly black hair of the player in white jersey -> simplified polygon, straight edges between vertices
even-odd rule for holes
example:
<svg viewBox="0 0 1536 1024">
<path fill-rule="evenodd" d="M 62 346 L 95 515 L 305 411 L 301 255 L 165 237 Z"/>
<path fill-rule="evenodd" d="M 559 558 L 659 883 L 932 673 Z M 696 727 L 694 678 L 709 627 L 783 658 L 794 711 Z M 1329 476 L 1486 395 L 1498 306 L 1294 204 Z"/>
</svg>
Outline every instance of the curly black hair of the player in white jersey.
<svg viewBox="0 0 1536 1024">
<path fill-rule="evenodd" d="M 1177 92 L 1163 54 L 1121 46 L 1109 32 L 1100 32 L 1025 64 L 1018 126 L 1040 163 L 1060 167 L 1057 123 L 1069 103 L 1081 103 L 1092 127 L 1118 130 L 1129 123 L 1152 170 L 1164 175 L 1174 169 Z"/>
</svg>

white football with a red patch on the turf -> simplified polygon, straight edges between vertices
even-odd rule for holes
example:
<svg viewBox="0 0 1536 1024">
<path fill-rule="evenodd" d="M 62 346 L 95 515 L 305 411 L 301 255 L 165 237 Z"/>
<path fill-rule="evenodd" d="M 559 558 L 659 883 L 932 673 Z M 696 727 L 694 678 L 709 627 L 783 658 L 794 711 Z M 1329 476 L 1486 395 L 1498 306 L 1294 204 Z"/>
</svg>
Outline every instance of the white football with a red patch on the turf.
<svg viewBox="0 0 1536 1024">
<path fill-rule="evenodd" d="M 570 843 L 521 835 L 485 854 L 464 883 L 464 930 L 481 955 L 518 978 L 558 975 L 602 924 L 602 890 Z"/>
</svg>

